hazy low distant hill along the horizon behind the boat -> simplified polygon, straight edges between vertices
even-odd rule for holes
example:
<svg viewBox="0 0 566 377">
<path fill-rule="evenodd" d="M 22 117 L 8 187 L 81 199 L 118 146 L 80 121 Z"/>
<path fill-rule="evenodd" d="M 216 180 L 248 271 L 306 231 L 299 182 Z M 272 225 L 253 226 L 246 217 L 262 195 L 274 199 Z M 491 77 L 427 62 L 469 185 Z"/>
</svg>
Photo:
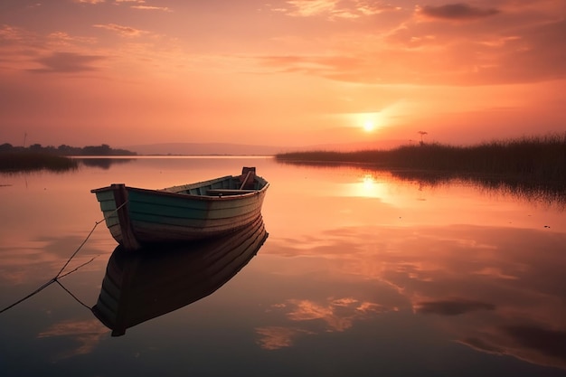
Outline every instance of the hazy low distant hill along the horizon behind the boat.
<svg viewBox="0 0 566 377">
<path fill-rule="evenodd" d="M 136 146 L 120 146 L 128 151 L 136 152 L 138 155 L 158 156 L 272 156 L 278 153 L 332 150 L 332 151 L 355 151 L 363 149 L 391 149 L 401 144 L 407 144 L 404 140 L 382 140 L 378 143 L 363 142 L 350 144 L 320 144 L 311 146 L 252 146 L 244 144 L 229 143 L 163 143 L 146 144 Z"/>
</svg>

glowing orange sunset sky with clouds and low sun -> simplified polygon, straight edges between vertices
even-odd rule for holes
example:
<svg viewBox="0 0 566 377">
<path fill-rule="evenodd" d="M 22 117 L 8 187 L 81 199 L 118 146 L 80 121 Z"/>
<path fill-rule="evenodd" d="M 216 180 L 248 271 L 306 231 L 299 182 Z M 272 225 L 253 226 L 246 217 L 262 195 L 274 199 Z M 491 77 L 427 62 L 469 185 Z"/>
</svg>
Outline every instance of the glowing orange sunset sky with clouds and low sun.
<svg viewBox="0 0 566 377">
<path fill-rule="evenodd" d="M 566 0 L 3 0 L 0 144 L 566 131 Z"/>
</svg>

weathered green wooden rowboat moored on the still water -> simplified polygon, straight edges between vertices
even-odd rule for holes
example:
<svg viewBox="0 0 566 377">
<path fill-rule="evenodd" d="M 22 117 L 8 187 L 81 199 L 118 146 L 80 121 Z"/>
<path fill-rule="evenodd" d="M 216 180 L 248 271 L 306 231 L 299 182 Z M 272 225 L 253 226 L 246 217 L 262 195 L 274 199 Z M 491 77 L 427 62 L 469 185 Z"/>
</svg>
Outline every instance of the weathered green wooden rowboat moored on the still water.
<svg viewBox="0 0 566 377">
<path fill-rule="evenodd" d="M 96 194 L 110 234 L 125 250 L 199 240 L 235 231 L 258 218 L 269 183 L 243 167 L 195 184 L 148 190 L 111 184 Z"/>
</svg>

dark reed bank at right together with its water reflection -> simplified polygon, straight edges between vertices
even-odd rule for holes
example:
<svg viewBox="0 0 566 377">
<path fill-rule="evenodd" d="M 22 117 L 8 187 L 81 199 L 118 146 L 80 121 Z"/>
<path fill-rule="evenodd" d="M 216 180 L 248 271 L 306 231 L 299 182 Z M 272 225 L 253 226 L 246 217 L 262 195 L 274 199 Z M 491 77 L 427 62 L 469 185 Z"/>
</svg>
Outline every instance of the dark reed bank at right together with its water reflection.
<svg viewBox="0 0 566 377">
<path fill-rule="evenodd" d="M 489 191 L 566 208 L 566 133 L 524 137 L 477 146 L 423 144 L 359 152 L 298 152 L 277 155 L 293 165 L 363 165 L 421 186 L 460 181 Z"/>
</svg>

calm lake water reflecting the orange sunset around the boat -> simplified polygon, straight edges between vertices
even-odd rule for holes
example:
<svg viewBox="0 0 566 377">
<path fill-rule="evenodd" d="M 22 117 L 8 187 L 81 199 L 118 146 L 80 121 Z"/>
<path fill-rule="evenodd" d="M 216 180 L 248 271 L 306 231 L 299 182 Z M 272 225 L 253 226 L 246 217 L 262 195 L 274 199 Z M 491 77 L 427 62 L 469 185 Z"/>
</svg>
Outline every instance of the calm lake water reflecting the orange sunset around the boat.
<svg viewBox="0 0 566 377">
<path fill-rule="evenodd" d="M 90 189 L 111 183 L 163 188 L 256 166 L 271 184 L 269 237 L 212 295 L 111 336 L 90 307 L 108 262 L 127 256 L 99 224 L 61 285 L 0 314 L 2 376 L 566 376 L 560 200 L 269 157 L 87 162 L 0 174 L 0 310 L 57 275 L 102 218 Z M 199 251 L 136 262 L 146 307 L 198 297 L 195 273 L 213 289 L 208 272 L 178 280 Z"/>
</svg>

